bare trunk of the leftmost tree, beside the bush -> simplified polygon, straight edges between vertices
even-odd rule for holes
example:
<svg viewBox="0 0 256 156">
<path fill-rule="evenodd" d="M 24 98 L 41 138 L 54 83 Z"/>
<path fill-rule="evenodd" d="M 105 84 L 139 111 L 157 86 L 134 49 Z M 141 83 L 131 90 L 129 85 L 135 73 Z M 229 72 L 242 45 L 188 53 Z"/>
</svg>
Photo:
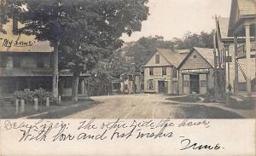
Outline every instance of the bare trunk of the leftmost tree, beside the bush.
<svg viewBox="0 0 256 156">
<path fill-rule="evenodd" d="M 60 43 L 56 43 L 54 47 L 54 56 L 53 56 L 53 78 L 52 78 L 52 95 L 55 99 L 58 99 L 58 84 L 59 84 L 59 45 Z"/>
</svg>

